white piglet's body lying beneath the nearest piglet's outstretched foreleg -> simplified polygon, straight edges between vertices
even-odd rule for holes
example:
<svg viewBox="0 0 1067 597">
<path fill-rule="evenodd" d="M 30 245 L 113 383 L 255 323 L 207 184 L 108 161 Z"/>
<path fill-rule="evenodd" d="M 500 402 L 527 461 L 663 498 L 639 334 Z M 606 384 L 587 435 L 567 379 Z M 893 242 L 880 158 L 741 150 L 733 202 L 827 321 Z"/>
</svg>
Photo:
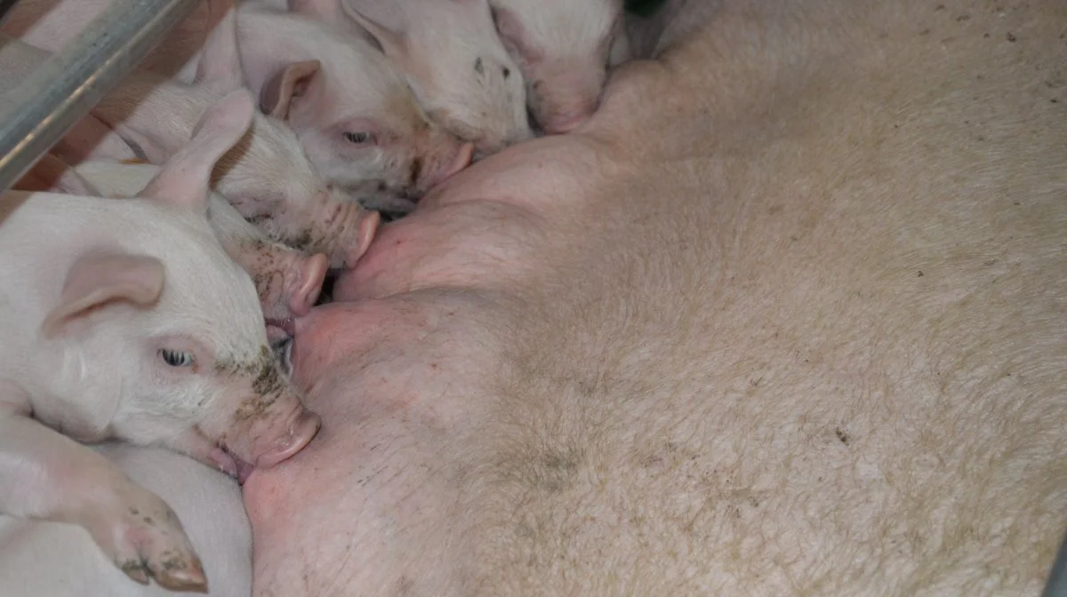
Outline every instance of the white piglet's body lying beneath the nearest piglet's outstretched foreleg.
<svg viewBox="0 0 1067 597">
<path fill-rule="evenodd" d="M 93 449 L 163 498 L 185 525 L 211 579 L 208 597 L 252 594 L 252 532 L 233 479 L 162 448 L 106 442 Z M 62 565 L 54 563 L 62 562 Z M 0 516 L 0 595 L 173 597 L 130 582 L 77 527 Z"/>
</svg>

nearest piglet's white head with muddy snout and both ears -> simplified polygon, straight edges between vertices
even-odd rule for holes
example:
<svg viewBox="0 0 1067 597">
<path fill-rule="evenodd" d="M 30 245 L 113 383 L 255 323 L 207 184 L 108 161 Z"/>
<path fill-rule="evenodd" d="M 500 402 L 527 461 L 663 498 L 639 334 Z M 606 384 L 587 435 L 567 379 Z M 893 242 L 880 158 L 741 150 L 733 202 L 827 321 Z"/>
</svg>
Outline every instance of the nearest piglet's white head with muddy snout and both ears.
<svg viewBox="0 0 1067 597">
<path fill-rule="evenodd" d="M 92 405 L 108 417 L 100 429 L 230 473 L 242 462 L 277 464 L 319 427 L 270 356 L 252 279 L 206 216 L 214 162 L 253 111 L 238 91 L 205 112 L 189 145 L 124 203 L 138 228 L 74 262 L 42 325 L 45 337 L 79 346 L 71 361 L 86 383 L 113 381 L 114 403 Z"/>
</svg>

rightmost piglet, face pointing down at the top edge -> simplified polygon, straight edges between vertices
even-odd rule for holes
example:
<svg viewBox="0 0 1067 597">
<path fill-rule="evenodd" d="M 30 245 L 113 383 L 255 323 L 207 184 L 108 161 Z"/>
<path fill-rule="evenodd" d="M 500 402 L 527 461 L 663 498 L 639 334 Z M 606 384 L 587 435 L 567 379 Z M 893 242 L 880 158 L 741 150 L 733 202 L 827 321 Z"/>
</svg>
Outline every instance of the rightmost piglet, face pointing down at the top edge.
<svg viewBox="0 0 1067 597">
<path fill-rule="evenodd" d="M 622 0 L 489 0 L 545 132 L 570 132 L 600 104 L 607 69 L 630 59 Z"/>
</svg>

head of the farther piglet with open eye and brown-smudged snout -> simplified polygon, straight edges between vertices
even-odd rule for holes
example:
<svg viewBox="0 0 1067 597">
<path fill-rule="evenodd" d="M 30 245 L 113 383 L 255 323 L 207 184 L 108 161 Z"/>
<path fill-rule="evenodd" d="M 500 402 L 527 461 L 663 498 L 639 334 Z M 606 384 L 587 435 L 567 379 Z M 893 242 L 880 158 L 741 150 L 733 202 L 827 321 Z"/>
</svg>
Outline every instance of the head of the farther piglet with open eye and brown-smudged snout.
<svg viewBox="0 0 1067 597">
<path fill-rule="evenodd" d="M 348 31 L 323 31 L 332 33 L 328 55 L 285 65 L 259 97 L 329 182 L 361 199 L 417 198 L 469 164 L 473 144 L 430 123 L 380 49 Z"/>
</svg>

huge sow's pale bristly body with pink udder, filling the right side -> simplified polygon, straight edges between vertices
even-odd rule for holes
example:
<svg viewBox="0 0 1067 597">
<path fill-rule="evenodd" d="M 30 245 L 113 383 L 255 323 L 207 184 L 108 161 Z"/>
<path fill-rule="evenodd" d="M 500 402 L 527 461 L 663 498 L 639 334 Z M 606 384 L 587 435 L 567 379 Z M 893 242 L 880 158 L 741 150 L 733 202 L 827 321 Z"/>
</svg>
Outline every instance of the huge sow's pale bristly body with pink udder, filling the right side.
<svg viewBox="0 0 1067 597">
<path fill-rule="evenodd" d="M 244 485 L 254 594 L 1037 595 L 1064 22 L 690 0 L 587 127 L 445 183 L 298 322 L 327 423 Z"/>
</svg>

